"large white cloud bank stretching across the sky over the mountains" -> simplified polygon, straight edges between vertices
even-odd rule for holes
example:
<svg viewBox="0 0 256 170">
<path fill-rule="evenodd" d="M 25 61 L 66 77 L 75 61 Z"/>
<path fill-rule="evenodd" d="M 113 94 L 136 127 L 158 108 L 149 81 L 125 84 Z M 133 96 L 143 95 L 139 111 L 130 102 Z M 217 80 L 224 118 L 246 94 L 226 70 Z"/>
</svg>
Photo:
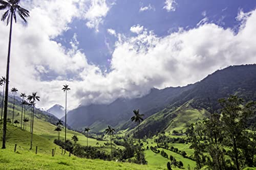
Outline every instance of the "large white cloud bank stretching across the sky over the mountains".
<svg viewBox="0 0 256 170">
<path fill-rule="evenodd" d="M 235 34 L 214 23 L 158 37 L 143 26 L 133 26 L 133 37 L 118 34 L 110 72 L 89 64 L 77 47 L 76 34 L 72 48 L 67 49 L 52 40 L 61 35 L 84 1 L 37 1 L 29 4 L 28 25 L 13 26 L 10 87 L 19 92 L 37 91 L 40 107 L 65 104 L 63 84 L 69 84 L 68 108 L 80 103 L 109 103 L 120 97 L 134 98 L 146 94 L 152 87 L 183 86 L 197 82 L 227 65 L 256 62 L 256 10 L 243 19 L 243 27 Z M 60 4 L 60 5 L 59 5 Z M 80 5 L 82 4 L 82 5 Z M 59 6 L 58 6 L 59 5 Z M 28 5 L 26 5 L 28 6 Z M 58 6 L 59 12 L 56 12 Z M 52 15 L 54 13 L 55 15 Z M 242 17 L 238 17 L 242 18 Z M 8 48 L 8 29 L 0 23 L 0 72 L 5 74 Z M 41 80 L 41 74 L 56 75 Z M 72 79 L 67 75 L 72 74 Z"/>
</svg>

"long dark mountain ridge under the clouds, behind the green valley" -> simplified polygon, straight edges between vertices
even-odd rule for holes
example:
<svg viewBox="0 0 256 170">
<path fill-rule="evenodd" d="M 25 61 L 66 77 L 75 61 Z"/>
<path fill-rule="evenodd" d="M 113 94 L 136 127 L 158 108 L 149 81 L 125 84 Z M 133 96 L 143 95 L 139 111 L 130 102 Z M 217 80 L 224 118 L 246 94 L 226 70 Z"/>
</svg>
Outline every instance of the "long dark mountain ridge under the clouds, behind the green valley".
<svg viewBox="0 0 256 170">
<path fill-rule="evenodd" d="M 237 94 L 246 101 L 256 100 L 255 72 L 255 64 L 229 66 L 184 87 L 154 88 L 142 98 L 117 99 L 109 105 L 80 106 L 68 113 L 68 124 L 78 130 L 90 126 L 95 131 L 102 131 L 107 125 L 117 130 L 132 129 L 135 127 L 130 121 L 133 110 L 140 109 L 147 123 L 142 124 L 142 131 L 167 130 L 180 112 L 185 112 L 186 116 L 197 112 L 191 120 L 207 114 L 208 98 L 215 110 L 220 108 L 218 99 L 230 94 Z"/>
</svg>

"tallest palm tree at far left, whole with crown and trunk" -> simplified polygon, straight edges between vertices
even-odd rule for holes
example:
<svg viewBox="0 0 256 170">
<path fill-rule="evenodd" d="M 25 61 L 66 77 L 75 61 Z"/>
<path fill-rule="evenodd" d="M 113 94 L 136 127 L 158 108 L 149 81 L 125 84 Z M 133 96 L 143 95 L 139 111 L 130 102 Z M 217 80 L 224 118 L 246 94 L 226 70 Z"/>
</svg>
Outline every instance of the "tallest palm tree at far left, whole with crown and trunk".
<svg viewBox="0 0 256 170">
<path fill-rule="evenodd" d="M 6 67 L 6 87 L 5 87 L 5 110 L 4 110 L 4 130 L 3 130 L 3 147 L 5 149 L 6 143 L 6 130 L 7 130 L 7 107 L 8 107 L 8 88 L 9 88 L 9 69 L 10 69 L 10 55 L 11 55 L 11 39 L 12 39 L 12 19 L 16 22 L 16 12 L 26 23 L 26 17 L 29 16 L 29 11 L 19 6 L 20 0 L 1 0 L 0 10 L 7 10 L 3 15 L 1 20 L 5 21 L 7 19 L 7 25 L 10 22 L 10 34 L 9 34 L 9 45 L 8 45 L 8 56 L 7 56 L 7 67 Z"/>
</svg>

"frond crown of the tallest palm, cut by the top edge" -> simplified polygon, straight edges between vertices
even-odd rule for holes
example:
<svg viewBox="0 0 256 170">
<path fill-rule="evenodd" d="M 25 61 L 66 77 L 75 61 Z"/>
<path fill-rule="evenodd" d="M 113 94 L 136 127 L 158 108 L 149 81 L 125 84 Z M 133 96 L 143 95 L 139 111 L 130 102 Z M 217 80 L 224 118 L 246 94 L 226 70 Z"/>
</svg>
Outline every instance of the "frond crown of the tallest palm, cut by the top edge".
<svg viewBox="0 0 256 170">
<path fill-rule="evenodd" d="M 20 7 L 18 5 L 19 2 L 20 0 L 0 0 L 0 10 L 6 10 L 6 12 L 2 15 L 1 20 L 5 21 L 7 18 L 7 25 L 10 17 L 13 17 L 16 22 L 16 13 L 18 13 L 19 17 L 22 18 L 25 23 L 27 22 L 25 18 L 29 16 L 29 11 Z"/>
</svg>

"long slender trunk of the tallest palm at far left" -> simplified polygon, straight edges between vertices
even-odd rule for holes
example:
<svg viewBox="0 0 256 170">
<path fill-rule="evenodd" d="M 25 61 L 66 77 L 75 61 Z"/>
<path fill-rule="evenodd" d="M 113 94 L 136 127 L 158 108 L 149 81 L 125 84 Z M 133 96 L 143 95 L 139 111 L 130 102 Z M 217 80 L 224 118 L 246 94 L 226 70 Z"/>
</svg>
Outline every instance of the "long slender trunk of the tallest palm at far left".
<svg viewBox="0 0 256 170">
<path fill-rule="evenodd" d="M 8 107 L 9 69 L 10 69 L 11 39 L 12 39 L 12 16 L 13 16 L 13 12 L 11 12 L 11 24 L 10 24 L 8 57 L 7 57 L 7 67 L 6 67 L 5 111 L 4 111 L 4 130 L 3 130 L 2 149 L 6 148 L 5 143 L 6 143 L 6 130 L 7 130 L 7 107 Z"/>
</svg>

